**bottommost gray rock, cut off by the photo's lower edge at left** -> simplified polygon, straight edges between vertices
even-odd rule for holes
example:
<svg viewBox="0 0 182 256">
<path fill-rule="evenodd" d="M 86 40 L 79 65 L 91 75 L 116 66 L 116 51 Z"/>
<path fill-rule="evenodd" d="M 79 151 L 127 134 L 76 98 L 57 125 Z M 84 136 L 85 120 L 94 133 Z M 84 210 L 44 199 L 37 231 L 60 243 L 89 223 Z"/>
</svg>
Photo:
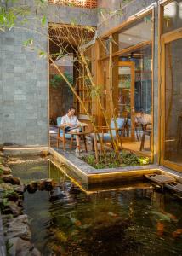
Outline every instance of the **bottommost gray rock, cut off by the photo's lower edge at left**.
<svg viewBox="0 0 182 256">
<path fill-rule="evenodd" d="M 10 256 L 41 256 L 41 253 L 31 244 L 30 241 L 25 241 L 20 237 L 9 239 L 9 244 L 12 247 L 9 249 Z"/>
</svg>

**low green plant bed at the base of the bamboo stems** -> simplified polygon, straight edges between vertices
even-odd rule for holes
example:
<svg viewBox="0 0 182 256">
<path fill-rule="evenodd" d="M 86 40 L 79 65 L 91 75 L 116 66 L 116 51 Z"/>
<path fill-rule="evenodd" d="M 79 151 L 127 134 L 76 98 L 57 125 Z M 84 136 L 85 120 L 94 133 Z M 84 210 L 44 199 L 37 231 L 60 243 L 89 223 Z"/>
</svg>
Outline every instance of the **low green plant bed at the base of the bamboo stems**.
<svg viewBox="0 0 182 256">
<path fill-rule="evenodd" d="M 81 159 L 88 165 L 93 166 L 95 169 L 117 168 L 124 166 L 144 166 L 150 164 L 149 157 L 137 156 L 134 153 L 128 153 L 126 151 L 122 151 L 119 159 L 114 153 L 100 155 L 98 162 L 96 161 L 94 154 L 84 155 Z"/>
</svg>

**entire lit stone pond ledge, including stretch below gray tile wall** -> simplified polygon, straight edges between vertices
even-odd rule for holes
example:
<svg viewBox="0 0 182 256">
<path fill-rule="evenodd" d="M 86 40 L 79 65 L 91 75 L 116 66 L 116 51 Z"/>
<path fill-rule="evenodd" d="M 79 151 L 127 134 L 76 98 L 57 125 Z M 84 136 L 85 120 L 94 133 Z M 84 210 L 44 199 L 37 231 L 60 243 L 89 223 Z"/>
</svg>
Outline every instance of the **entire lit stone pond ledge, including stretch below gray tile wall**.
<svg viewBox="0 0 182 256">
<path fill-rule="evenodd" d="M 75 154 L 64 152 L 62 149 L 48 147 L 34 148 L 3 148 L 5 154 L 21 155 L 21 154 L 40 154 L 48 151 L 52 155 L 52 161 L 65 174 L 76 180 L 85 189 L 90 184 L 99 183 L 132 183 L 143 180 L 145 174 L 158 173 L 167 174 L 175 177 L 182 183 L 182 172 L 176 172 L 164 166 L 147 165 L 147 166 L 127 166 L 111 169 L 95 169 L 84 161 L 77 158 Z"/>
</svg>

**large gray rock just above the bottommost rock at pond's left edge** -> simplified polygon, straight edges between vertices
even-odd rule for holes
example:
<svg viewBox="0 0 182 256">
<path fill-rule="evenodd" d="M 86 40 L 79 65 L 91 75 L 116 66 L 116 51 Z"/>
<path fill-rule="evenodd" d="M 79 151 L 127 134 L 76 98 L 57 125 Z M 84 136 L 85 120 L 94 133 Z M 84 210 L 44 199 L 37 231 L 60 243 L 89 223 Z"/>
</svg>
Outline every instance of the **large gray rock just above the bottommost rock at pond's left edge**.
<svg viewBox="0 0 182 256">
<path fill-rule="evenodd" d="M 31 229 L 27 215 L 20 215 L 13 220 L 10 220 L 9 223 L 5 225 L 4 235 L 7 239 L 20 237 L 24 240 L 30 240 Z"/>
</svg>

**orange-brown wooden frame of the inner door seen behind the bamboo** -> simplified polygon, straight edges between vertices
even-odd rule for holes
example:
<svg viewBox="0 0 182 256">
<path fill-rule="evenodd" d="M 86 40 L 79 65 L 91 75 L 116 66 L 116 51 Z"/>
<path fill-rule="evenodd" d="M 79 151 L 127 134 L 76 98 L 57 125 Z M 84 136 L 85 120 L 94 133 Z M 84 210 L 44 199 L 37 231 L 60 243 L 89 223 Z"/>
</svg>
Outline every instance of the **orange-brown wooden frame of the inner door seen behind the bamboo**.
<svg viewBox="0 0 182 256">
<path fill-rule="evenodd" d="M 118 67 L 130 67 L 131 68 L 131 140 L 134 138 L 134 81 L 135 81 L 135 63 L 133 61 L 118 61 Z M 119 73 L 118 73 L 119 75 Z M 117 89 L 119 90 L 118 84 Z M 118 95 L 118 93 L 117 93 Z"/>
</svg>

